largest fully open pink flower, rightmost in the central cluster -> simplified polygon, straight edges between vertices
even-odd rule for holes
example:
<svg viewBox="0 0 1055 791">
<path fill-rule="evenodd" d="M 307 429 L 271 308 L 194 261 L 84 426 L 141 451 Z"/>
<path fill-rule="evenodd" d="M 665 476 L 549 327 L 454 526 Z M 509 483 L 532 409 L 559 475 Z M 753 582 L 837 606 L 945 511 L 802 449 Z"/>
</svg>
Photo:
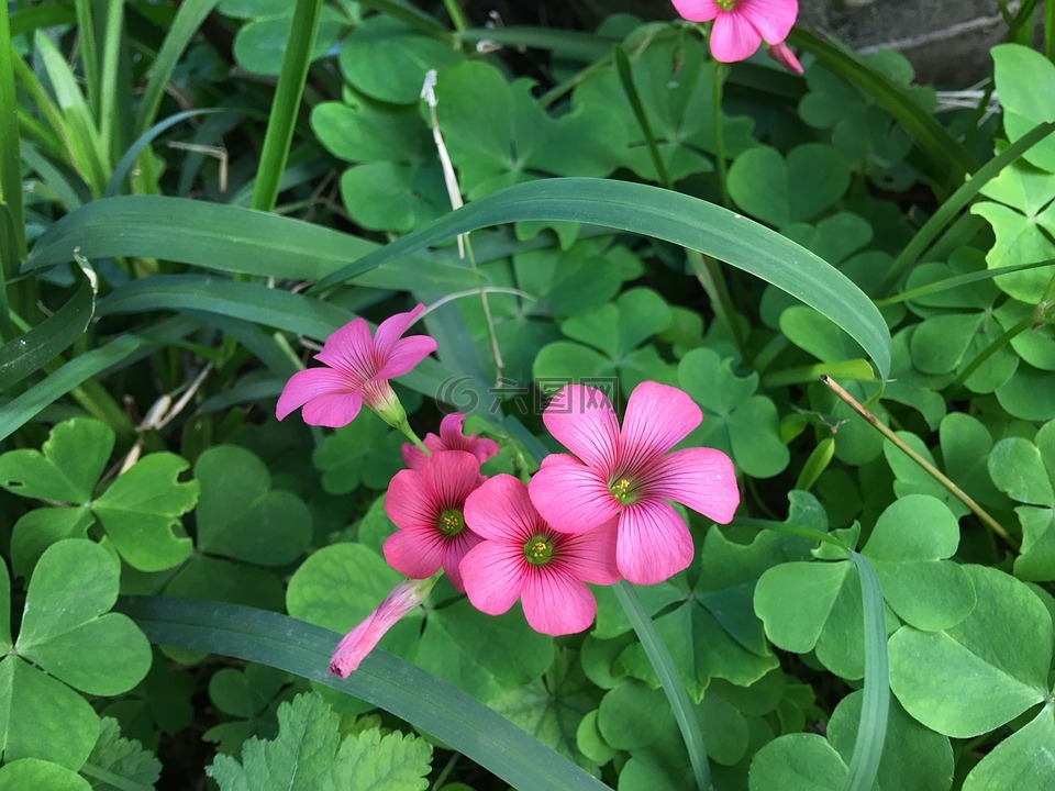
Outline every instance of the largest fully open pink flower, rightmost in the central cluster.
<svg viewBox="0 0 1055 791">
<path fill-rule="evenodd" d="M 692 536 L 667 502 L 725 524 L 740 504 L 733 464 L 721 450 L 667 453 L 703 420 L 677 388 L 646 381 L 630 396 L 620 430 L 600 390 L 569 385 L 543 413 L 546 428 L 575 456 L 553 454 L 531 479 L 531 501 L 553 527 L 585 533 L 619 519 L 620 573 L 654 584 L 692 561 Z"/>
</svg>

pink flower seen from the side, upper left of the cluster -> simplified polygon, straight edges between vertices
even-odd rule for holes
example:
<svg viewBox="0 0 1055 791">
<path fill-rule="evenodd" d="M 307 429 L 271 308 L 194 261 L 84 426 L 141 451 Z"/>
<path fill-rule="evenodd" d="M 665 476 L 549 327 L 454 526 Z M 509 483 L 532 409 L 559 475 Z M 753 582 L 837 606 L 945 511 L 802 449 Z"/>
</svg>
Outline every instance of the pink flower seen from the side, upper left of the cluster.
<svg viewBox="0 0 1055 791">
<path fill-rule="evenodd" d="M 407 420 L 399 400 L 388 383 L 402 376 L 436 350 L 427 335 L 400 338 L 424 312 L 419 304 L 409 313 L 397 313 L 382 321 L 371 338 L 363 319 L 353 319 L 326 338 L 315 359 L 326 368 L 309 368 L 293 374 L 278 397 L 275 416 L 282 420 L 303 406 L 304 423 L 338 428 L 347 425 L 367 406 L 386 421 Z"/>
</svg>

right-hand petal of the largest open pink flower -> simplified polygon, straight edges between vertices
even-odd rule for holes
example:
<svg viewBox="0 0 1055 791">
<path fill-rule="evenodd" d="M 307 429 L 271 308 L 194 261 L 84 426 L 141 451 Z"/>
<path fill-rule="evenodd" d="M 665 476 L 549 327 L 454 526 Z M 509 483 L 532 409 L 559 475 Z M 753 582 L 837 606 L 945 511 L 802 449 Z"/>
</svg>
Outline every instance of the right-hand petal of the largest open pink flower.
<svg viewBox="0 0 1055 791">
<path fill-rule="evenodd" d="M 729 456 L 713 448 L 686 448 L 664 456 L 649 470 L 648 492 L 669 498 L 720 524 L 729 524 L 740 505 L 736 474 Z"/>
</svg>

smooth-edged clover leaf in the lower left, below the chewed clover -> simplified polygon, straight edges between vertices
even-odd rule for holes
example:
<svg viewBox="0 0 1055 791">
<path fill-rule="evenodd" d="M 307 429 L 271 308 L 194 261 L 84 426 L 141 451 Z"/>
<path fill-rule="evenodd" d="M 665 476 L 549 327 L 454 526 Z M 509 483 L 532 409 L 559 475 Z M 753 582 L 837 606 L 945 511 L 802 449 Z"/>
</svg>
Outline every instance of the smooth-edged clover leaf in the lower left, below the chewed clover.
<svg viewBox="0 0 1055 791">
<path fill-rule="evenodd" d="M 70 687 L 114 695 L 151 666 L 146 636 L 109 610 L 119 566 L 92 542 L 60 541 L 41 556 L 25 595 L 18 639 L 10 633 L 10 581 L 0 564 L 0 750 L 5 760 L 40 758 L 79 769 L 99 735 L 99 717 Z M 68 686 L 67 686 L 68 684 Z"/>
</svg>

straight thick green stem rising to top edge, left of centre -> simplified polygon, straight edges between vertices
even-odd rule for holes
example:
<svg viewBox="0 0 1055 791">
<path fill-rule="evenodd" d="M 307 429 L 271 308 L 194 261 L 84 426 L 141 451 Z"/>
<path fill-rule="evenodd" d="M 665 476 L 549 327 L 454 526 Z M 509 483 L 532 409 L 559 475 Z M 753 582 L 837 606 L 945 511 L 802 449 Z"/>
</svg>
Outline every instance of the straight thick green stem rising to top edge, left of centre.
<svg viewBox="0 0 1055 791">
<path fill-rule="evenodd" d="M 271 211 L 278 200 L 278 187 L 286 170 L 289 148 L 293 141 L 300 99 L 304 93 L 311 51 L 319 30 L 322 0 L 297 0 L 292 25 L 282 56 L 282 68 L 275 88 L 271 114 L 260 152 L 260 167 L 253 186 L 251 208 Z"/>
</svg>

